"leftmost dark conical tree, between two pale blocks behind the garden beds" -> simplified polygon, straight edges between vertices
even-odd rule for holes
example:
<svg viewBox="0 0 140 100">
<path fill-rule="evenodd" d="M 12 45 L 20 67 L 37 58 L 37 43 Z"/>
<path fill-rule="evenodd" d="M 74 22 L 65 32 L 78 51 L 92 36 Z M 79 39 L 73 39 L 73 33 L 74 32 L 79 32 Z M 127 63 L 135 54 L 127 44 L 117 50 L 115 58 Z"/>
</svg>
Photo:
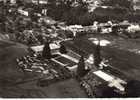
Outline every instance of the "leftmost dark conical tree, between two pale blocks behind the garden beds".
<svg viewBox="0 0 140 100">
<path fill-rule="evenodd" d="M 45 43 L 45 46 L 44 46 L 43 51 L 42 51 L 42 57 L 47 58 L 47 59 L 51 59 L 51 57 L 52 57 L 51 49 L 50 49 L 48 42 Z"/>
</svg>

